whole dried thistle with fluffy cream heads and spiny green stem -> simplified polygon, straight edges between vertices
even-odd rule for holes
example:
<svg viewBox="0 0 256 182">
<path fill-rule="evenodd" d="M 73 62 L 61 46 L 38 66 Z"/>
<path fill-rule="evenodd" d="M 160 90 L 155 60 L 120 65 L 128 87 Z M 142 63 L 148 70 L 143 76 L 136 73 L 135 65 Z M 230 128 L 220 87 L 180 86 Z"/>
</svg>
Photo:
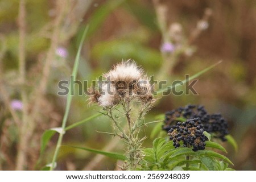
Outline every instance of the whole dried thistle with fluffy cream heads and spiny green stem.
<svg viewBox="0 0 256 182">
<path fill-rule="evenodd" d="M 132 60 L 115 65 L 104 77 L 106 81 L 98 86 L 98 91 L 93 92 L 90 101 L 103 107 L 106 111 L 104 114 L 114 124 L 112 135 L 121 137 L 127 144 L 127 163 L 122 169 L 134 170 L 143 158 L 141 147 L 145 137 L 139 138 L 138 133 L 145 125 L 144 115 L 154 101 L 151 93 L 153 87 L 143 69 Z M 137 107 L 132 102 L 137 102 L 137 106 L 139 102 L 141 106 Z M 114 107 L 118 104 L 118 108 Z M 128 129 L 123 129 L 120 125 L 123 118 L 126 118 Z"/>
</svg>

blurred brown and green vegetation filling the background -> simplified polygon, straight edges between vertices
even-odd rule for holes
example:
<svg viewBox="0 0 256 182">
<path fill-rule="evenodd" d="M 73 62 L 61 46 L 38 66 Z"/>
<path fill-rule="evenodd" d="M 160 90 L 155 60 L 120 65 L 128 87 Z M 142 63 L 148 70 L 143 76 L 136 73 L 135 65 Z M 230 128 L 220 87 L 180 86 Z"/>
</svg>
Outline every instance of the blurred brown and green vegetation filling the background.
<svg viewBox="0 0 256 182">
<path fill-rule="evenodd" d="M 199 95 L 164 96 L 148 114 L 148 118 L 189 103 L 205 105 L 210 113 L 222 113 L 228 119 L 230 134 L 238 142 L 238 152 L 228 144 L 228 157 L 237 170 L 256 169 L 256 4 L 246 1 L 97 1 L 69 0 L 29 1 L 25 3 L 24 60 L 25 80 L 20 73 L 20 20 L 17 0 L 0 2 L 0 169 L 40 169 L 51 163 L 57 136 L 38 162 L 40 137 L 45 130 L 59 127 L 65 109 L 65 97 L 57 96 L 57 83 L 67 80 L 72 71 L 81 32 L 89 23 L 82 49 L 80 80 L 93 80 L 122 59 L 134 59 L 147 71 L 157 75 L 164 64 L 155 6 L 166 9 L 167 25 L 178 22 L 184 39 L 195 30 L 205 9 L 212 10 L 209 27 L 192 43 L 192 56 L 179 55 L 170 75 L 171 80 L 196 72 L 222 60 L 222 63 L 199 77 L 195 88 Z M 59 19 L 58 19 L 59 18 Z M 64 47 L 68 57 L 56 55 Z M 168 78 L 167 78 L 168 79 Z M 25 98 L 22 96 L 25 95 Z M 11 109 L 12 100 L 22 100 L 22 111 Z M 25 99 L 25 103 L 24 103 Z M 99 110 L 88 107 L 85 96 L 75 96 L 68 123 L 80 121 Z M 24 120 L 24 112 L 26 113 Z M 16 119 L 15 119 L 16 117 Z M 99 117 L 72 129 L 64 135 L 64 143 L 105 148 L 113 140 L 97 131 L 109 131 L 111 123 Z M 27 132 L 26 132 L 27 127 Z M 145 129 L 149 136 L 150 126 Z M 22 130 L 24 128 L 24 130 Z M 31 129 L 32 128 L 32 129 Z M 30 130 L 31 129 L 31 130 Z M 28 133 L 28 136 L 24 135 Z M 20 142 L 23 140 L 23 146 Z M 150 145 L 148 137 L 145 146 Z M 110 147 L 111 148 L 111 147 Z M 122 143 L 112 147 L 122 152 Z M 23 151 L 22 166 L 17 167 Z M 94 168 L 88 163 L 90 152 L 63 148 L 57 169 L 114 169 L 115 161 L 98 159 Z M 96 158 L 93 158 L 96 159 Z M 94 160 L 95 161 L 95 160 Z M 87 165 L 87 168 L 86 168 Z"/>
</svg>

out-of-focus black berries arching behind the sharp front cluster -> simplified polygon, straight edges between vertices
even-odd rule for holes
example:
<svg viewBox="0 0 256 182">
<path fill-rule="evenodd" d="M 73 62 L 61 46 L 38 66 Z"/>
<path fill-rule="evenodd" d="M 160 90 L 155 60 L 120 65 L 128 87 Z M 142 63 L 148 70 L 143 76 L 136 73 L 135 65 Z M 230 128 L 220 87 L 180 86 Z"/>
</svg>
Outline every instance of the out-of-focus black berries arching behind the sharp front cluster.
<svg viewBox="0 0 256 182">
<path fill-rule="evenodd" d="M 163 130 L 167 132 L 180 119 L 200 118 L 203 129 L 208 133 L 213 133 L 214 137 L 225 141 L 225 135 L 228 134 L 228 122 L 222 118 L 221 114 L 208 114 L 204 106 L 201 105 L 187 105 L 179 107 L 176 110 L 168 111 L 164 120 Z"/>
</svg>

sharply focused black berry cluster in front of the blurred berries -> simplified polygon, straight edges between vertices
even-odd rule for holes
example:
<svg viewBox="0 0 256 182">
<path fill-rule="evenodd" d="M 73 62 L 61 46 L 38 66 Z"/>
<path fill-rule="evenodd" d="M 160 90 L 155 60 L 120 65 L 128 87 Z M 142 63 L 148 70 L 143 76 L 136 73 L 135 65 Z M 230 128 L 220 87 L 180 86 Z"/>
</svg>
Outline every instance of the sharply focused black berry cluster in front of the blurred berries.
<svg viewBox="0 0 256 182">
<path fill-rule="evenodd" d="M 168 135 L 175 148 L 180 147 L 180 142 L 183 142 L 184 147 L 193 147 L 193 151 L 204 150 L 207 137 L 203 128 L 200 118 L 188 119 L 183 123 L 177 122 L 168 131 Z"/>
</svg>

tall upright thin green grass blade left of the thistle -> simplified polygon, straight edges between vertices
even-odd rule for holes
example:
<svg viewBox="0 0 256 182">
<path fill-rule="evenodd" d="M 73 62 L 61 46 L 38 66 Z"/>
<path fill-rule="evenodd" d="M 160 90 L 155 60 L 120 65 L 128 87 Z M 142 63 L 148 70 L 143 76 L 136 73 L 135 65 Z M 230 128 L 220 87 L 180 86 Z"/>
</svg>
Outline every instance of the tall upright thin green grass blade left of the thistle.
<svg viewBox="0 0 256 182">
<path fill-rule="evenodd" d="M 84 43 L 84 39 L 85 39 L 85 35 L 86 35 L 87 31 L 88 31 L 88 26 L 86 26 L 84 34 L 82 35 L 82 39 L 81 39 L 79 49 L 77 51 L 77 55 L 76 55 L 76 59 L 75 59 L 75 64 L 74 64 L 74 67 L 73 67 L 72 75 L 74 76 L 75 80 L 76 80 L 77 71 L 78 71 L 78 67 L 79 67 L 79 60 L 80 60 L 80 53 L 81 53 L 81 49 L 82 49 L 82 44 Z M 69 90 L 70 90 L 70 83 L 69 83 Z M 67 121 L 68 121 L 68 114 L 69 114 L 69 110 L 70 110 L 70 107 L 71 107 L 71 102 L 72 102 L 72 95 L 69 93 L 68 98 L 67 98 L 67 105 L 66 105 L 66 109 L 65 109 L 65 114 L 64 114 L 64 117 L 63 117 L 62 125 L 61 125 L 61 129 L 63 129 L 63 132 L 60 133 L 58 141 L 57 141 L 57 146 L 55 148 L 55 152 L 53 154 L 52 163 L 51 163 L 51 167 L 50 167 L 51 171 L 55 167 L 55 162 L 56 162 L 56 159 L 57 159 L 57 155 L 59 154 L 59 149 L 60 149 L 60 146 L 61 146 L 61 142 L 62 142 L 62 139 L 63 139 L 63 135 L 65 133 L 64 130 L 65 130 L 65 127 L 66 127 Z"/>
</svg>

